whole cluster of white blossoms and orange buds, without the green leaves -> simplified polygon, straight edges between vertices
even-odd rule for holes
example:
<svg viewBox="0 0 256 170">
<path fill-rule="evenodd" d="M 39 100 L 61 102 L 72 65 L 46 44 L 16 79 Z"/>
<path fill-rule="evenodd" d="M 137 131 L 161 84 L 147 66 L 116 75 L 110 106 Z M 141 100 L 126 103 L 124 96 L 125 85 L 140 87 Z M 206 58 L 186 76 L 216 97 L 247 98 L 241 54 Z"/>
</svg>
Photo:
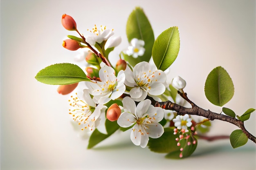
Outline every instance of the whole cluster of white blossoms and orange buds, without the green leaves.
<svg viewBox="0 0 256 170">
<path fill-rule="evenodd" d="M 79 33 L 70 15 L 63 15 L 62 24 L 65 29 Z M 171 110 L 154 107 L 150 100 L 161 102 L 166 91 L 170 91 L 169 86 L 182 91 L 186 85 L 184 79 L 177 76 L 171 84 L 167 84 L 166 73 L 154 63 L 142 61 L 132 66 L 121 55 L 116 66 L 112 66 L 108 60 L 108 51 L 121 43 L 121 37 L 114 37 L 113 29 L 106 29 L 106 26 L 98 29 L 94 25 L 86 37 L 79 35 L 82 39 L 64 40 L 63 47 L 72 51 L 87 51 L 76 58 L 86 60 L 88 67 L 85 71 L 89 81 L 82 84 L 82 93 L 76 93 L 70 99 L 70 115 L 81 125 L 82 130 L 93 132 L 97 129 L 107 134 L 106 119 L 116 121 L 120 127 L 131 129 L 131 141 L 142 148 L 147 146 L 149 137 L 159 138 L 163 135 L 164 125 L 159 123 L 163 119 L 174 122 L 176 133 L 177 129 L 187 132 L 192 124 L 189 115 L 182 117 Z M 133 38 L 123 53 L 137 59 L 144 55 L 144 45 L 144 40 Z M 58 93 L 69 94 L 77 86 L 78 83 L 61 85 Z M 115 101 L 121 101 L 122 105 Z M 114 104 L 108 108 L 106 105 L 109 102 Z"/>
</svg>

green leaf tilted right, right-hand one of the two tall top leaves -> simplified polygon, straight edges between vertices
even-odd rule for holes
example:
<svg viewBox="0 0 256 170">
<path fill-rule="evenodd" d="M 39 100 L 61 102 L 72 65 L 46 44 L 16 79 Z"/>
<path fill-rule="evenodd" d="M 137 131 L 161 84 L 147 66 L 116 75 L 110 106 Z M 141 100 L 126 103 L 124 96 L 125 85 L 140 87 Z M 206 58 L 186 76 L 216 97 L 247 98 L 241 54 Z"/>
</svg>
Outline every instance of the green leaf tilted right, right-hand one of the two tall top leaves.
<svg viewBox="0 0 256 170">
<path fill-rule="evenodd" d="M 180 33 L 177 26 L 166 29 L 155 40 L 152 57 L 158 69 L 166 70 L 177 58 L 180 50 Z"/>
</svg>

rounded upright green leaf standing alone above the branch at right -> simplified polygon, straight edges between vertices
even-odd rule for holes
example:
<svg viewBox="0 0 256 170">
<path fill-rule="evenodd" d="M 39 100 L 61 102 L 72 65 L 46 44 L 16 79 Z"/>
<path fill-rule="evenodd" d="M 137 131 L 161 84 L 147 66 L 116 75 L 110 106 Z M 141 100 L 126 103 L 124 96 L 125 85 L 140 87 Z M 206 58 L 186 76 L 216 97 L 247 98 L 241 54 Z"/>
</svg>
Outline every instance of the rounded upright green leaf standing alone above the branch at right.
<svg viewBox="0 0 256 170">
<path fill-rule="evenodd" d="M 227 71 L 218 66 L 207 76 L 204 93 L 207 99 L 217 106 L 223 106 L 234 95 L 234 84 Z"/>
</svg>

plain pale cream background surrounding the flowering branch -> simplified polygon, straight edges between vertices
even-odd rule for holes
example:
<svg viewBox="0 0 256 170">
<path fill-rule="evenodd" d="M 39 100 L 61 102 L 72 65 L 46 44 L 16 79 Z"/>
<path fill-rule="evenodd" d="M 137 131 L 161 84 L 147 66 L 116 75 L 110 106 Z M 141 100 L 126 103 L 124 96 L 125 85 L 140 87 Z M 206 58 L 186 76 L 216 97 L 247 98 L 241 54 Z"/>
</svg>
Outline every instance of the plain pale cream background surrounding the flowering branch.
<svg viewBox="0 0 256 170">
<path fill-rule="evenodd" d="M 63 13 L 73 16 L 81 32 L 94 24 L 115 29 L 115 35 L 122 36 L 118 54 L 128 45 L 126 20 L 136 6 L 143 7 L 155 38 L 171 26 L 179 27 L 180 53 L 169 78 L 186 79 L 184 90 L 195 104 L 220 113 L 203 89 L 208 73 L 223 66 L 235 85 L 225 107 L 237 115 L 256 108 L 255 0 L 1 0 L 1 170 L 255 170 L 252 141 L 234 150 L 229 140 L 200 140 L 191 157 L 169 160 L 134 146 L 129 132 L 117 132 L 87 150 L 88 140 L 68 114 L 69 95 L 58 95 L 58 86 L 34 79 L 46 66 L 74 63 L 77 52 L 61 46 L 65 35 L 76 35 L 62 27 Z M 246 121 L 254 136 L 255 121 L 255 113 Z M 216 120 L 209 135 L 229 135 L 235 129 Z"/>
</svg>

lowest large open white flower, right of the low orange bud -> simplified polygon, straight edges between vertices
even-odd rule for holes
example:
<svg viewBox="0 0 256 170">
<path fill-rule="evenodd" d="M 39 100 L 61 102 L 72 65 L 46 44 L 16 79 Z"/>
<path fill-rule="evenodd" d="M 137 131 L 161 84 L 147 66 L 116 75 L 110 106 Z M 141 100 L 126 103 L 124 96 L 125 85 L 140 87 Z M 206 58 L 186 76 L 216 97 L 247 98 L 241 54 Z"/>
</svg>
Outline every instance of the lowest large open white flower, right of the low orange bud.
<svg viewBox="0 0 256 170">
<path fill-rule="evenodd" d="M 149 99 L 139 102 L 136 107 L 135 102 L 130 97 L 123 99 L 124 112 L 121 113 L 117 124 L 127 128 L 134 124 L 130 134 L 133 144 L 145 148 L 149 137 L 158 138 L 164 133 L 164 128 L 158 122 L 164 118 L 162 108 L 151 105 Z"/>
</svg>

